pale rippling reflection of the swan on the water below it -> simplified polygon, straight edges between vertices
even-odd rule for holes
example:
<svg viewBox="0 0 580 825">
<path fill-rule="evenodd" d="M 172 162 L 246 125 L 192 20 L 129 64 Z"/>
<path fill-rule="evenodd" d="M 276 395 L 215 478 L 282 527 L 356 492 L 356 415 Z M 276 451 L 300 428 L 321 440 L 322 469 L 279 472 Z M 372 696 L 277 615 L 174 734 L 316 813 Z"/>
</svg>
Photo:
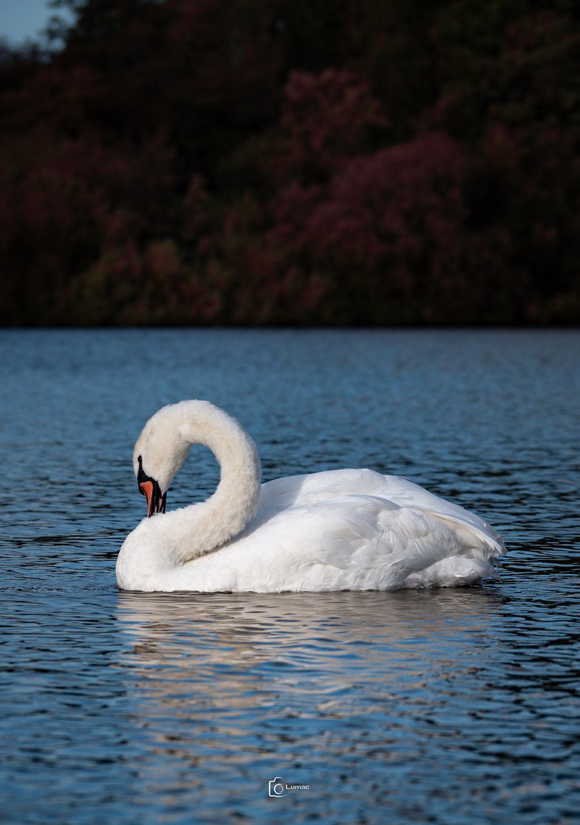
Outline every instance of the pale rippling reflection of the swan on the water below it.
<svg viewBox="0 0 580 825">
<path fill-rule="evenodd" d="M 502 601 L 492 589 L 121 592 L 122 666 L 155 740 L 194 762 L 271 752 L 284 734 L 302 737 L 296 719 L 365 727 L 380 714 L 371 733 L 385 742 L 478 671 Z"/>
</svg>

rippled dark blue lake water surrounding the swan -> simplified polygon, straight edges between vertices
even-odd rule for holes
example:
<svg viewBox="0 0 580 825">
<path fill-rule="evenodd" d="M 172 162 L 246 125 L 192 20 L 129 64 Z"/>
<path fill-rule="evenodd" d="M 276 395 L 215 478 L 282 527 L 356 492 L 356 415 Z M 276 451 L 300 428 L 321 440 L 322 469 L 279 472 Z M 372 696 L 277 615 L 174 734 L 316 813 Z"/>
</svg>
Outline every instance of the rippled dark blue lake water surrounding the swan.
<svg viewBox="0 0 580 825">
<path fill-rule="evenodd" d="M 10 823 L 578 823 L 578 332 L 2 332 Z M 138 595 L 131 448 L 209 398 L 264 478 L 404 474 L 509 547 L 435 592 Z M 207 450 L 169 506 L 212 492 Z M 281 777 L 308 790 L 269 798 Z"/>
</svg>

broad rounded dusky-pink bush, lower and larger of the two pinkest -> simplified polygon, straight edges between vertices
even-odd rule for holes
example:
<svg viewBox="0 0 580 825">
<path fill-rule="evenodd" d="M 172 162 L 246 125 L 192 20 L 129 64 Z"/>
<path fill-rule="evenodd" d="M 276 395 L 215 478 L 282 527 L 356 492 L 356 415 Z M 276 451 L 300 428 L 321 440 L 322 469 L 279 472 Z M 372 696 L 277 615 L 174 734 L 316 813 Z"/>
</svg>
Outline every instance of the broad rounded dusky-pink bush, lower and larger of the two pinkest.
<svg viewBox="0 0 580 825">
<path fill-rule="evenodd" d="M 464 220 L 464 153 L 443 133 L 354 158 L 323 195 L 296 184 L 275 204 L 279 232 L 329 266 L 413 268 L 449 257 Z M 316 193 L 318 194 L 318 193 Z"/>
</svg>

